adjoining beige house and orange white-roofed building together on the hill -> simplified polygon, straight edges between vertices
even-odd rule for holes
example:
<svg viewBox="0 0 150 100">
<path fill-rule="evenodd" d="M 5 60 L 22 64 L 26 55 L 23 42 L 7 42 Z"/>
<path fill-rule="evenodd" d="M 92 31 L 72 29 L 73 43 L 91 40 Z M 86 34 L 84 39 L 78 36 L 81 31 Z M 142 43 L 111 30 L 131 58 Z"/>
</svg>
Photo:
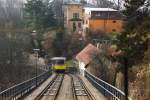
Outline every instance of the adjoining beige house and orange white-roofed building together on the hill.
<svg viewBox="0 0 150 100">
<path fill-rule="evenodd" d="M 87 29 L 120 33 L 123 31 L 123 20 L 118 10 L 83 7 L 80 3 L 71 2 L 64 5 L 64 27 L 69 32 L 81 33 L 83 36 Z"/>
</svg>

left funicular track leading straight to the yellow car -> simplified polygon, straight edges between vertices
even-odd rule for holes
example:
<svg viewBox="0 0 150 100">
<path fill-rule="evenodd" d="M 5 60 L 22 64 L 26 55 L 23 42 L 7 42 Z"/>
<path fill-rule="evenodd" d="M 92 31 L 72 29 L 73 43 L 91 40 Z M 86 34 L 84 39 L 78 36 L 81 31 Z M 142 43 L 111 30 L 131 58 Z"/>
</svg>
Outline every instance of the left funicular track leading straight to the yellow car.
<svg viewBox="0 0 150 100">
<path fill-rule="evenodd" d="M 35 100 L 55 100 L 61 87 L 64 74 L 57 74 L 50 84 L 36 97 Z"/>
</svg>

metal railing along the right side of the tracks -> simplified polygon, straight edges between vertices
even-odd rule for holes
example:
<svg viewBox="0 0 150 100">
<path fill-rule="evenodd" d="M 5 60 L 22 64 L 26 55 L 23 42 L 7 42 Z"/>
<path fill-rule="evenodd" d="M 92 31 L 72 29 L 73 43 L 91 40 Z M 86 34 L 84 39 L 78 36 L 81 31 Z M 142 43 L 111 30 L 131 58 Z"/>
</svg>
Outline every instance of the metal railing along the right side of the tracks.
<svg viewBox="0 0 150 100">
<path fill-rule="evenodd" d="M 97 78 L 90 72 L 85 71 L 85 77 L 96 87 L 108 100 L 125 100 L 125 93 L 109 83 Z"/>
</svg>

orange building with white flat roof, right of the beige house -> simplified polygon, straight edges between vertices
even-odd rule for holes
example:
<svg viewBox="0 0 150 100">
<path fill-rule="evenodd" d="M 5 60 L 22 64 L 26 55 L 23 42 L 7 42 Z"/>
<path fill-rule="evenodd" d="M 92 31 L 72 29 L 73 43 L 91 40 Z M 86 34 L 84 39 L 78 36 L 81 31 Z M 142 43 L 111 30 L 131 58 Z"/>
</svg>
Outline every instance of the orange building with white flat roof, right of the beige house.
<svg viewBox="0 0 150 100">
<path fill-rule="evenodd" d="M 120 13 L 111 8 L 84 8 L 83 29 L 105 33 L 122 32 L 123 20 Z"/>
</svg>

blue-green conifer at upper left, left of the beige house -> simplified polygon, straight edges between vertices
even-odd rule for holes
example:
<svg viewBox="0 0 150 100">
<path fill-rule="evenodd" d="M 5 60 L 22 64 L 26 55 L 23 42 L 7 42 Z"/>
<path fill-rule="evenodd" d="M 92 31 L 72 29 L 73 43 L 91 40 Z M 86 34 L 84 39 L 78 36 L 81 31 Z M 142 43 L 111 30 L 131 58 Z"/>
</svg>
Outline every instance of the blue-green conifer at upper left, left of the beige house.
<svg viewBox="0 0 150 100">
<path fill-rule="evenodd" d="M 27 0 L 24 10 L 27 27 L 37 33 L 32 39 L 33 48 L 42 50 L 43 33 L 56 25 L 52 6 L 49 0 Z"/>
</svg>

